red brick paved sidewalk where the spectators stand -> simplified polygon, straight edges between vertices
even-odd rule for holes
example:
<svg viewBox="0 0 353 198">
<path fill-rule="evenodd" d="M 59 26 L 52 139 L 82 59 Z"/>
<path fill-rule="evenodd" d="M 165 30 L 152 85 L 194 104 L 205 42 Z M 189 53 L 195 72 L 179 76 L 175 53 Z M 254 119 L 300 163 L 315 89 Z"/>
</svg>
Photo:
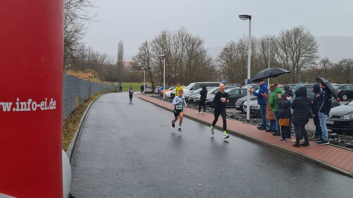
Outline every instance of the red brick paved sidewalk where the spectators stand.
<svg viewBox="0 0 353 198">
<path fill-rule="evenodd" d="M 171 103 L 147 97 L 142 94 L 136 94 L 143 100 L 156 104 L 164 109 L 172 111 L 174 106 Z M 214 119 L 213 114 L 206 113 L 205 115 L 197 115 L 197 110 L 184 108 L 184 116 L 201 122 L 203 124 L 211 125 Z M 216 128 L 222 130 L 222 119 L 216 123 Z M 245 138 L 247 140 L 262 144 L 264 146 L 273 148 L 282 153 L 297 157 L 299 159 L 315 163 L 318 166 L 331 169 L 341 174 L 353 177 L 353 152 L 330 145 L 318 145 L 310 141 L 308 147 L 293 147 L 294 143 L 282 142 L 279 136 L 272 136 L 271 133 L 260 131 L 255 125 L 243 123 L 237 120 L 227 118 L 227 132 L 230 134 Z M 211 134 L 211 132 L 210 132 Z"/>
</svg>

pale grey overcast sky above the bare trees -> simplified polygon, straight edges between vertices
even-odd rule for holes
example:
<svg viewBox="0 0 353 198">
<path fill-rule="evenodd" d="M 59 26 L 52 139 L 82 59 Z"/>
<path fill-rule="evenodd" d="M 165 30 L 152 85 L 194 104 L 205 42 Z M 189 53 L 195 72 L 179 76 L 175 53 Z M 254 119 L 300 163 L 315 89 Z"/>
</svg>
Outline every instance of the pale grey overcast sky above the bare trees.
<svg viewBox="0 0 353 198">
<path fill-rule="evenodd" d="M 117 45 L 125 45 L 126 60 L 145 40 L 161 30 L 180 26 L 205 40 L 205 47 L 224 46 L 251 33 L 277 34 L 281 29 L 304 25 L 314 36 L 353 36 L 352 0 L 97 0 L 97 19 L 86 40 L 95 50 L 116 56 Z"/>
</svg>

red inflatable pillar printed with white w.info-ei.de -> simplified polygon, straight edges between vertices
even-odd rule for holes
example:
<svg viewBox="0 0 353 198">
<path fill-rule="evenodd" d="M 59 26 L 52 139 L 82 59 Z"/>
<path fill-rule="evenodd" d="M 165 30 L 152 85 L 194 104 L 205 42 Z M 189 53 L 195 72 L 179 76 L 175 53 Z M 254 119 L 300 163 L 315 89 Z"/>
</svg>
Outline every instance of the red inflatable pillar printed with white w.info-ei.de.
<svg viewBox="0 0 353 198">
<path fill-rule="evenodd" d="M 62 198 L 64 0 L 2 0 L 0 25 L 0 197 Z"/>
</svg>

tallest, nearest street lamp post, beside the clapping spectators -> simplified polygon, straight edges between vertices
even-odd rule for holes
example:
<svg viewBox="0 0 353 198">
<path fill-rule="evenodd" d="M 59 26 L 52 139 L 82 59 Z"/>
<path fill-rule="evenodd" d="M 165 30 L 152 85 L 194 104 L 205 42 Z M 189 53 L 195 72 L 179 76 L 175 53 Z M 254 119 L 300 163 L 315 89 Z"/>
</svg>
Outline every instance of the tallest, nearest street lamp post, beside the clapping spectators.
<svg viewBox="0 0 353 198">
<path fill-rule="evenodd" d="M 247 49 L 247 102 L 246 102 L 246 120 L 250 120 L 250 55 L 251 55 L 251 15 L 248 13 L 240 13 L 239 18 L 241 20 L 249 19 L 249 43 Z"/>
</svg>

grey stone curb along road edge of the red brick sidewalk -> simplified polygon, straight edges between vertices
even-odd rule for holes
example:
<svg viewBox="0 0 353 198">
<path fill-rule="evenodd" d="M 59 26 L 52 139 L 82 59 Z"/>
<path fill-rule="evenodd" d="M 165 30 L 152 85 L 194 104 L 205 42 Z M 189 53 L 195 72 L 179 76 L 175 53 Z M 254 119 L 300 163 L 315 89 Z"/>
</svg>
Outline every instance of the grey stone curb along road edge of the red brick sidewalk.
<svg viewBox="0 0 353 198">
<path fill-rule="evenodd" d="M 147 102 L 149 102 L 149 103 L 152 103 L 151 101 L 145 100 L 143 97 L 138 97 L 138 98 L 140 98 L 140 99 L 142 99 L 142 100 L 144 100 L 144 101 L 147 101 Z M 160 105 L 158 105 L 158 104 L 156 104 L 156 103 L 152 103 L 152 104 L 154 104 L 154 105 L 156 105 L 156 106 L 158 106 L 158 107 L 161 107 L 161 108 L 163 108 L 163 109 L 165 109 L 165 110 L 172 111 L 172 110 L 168 109 L 167 107 L 160 106 Z M 211 124 L 211 123 L 209 123 L 209 122 L 206 122 L 206 121 L 204 121 L 204 120 L 201 120 L 201 119 L 198 119 L 198 118 L 195 118 L 195 117 L 186 115 L 186 114 L 184 114 L 184 117 L 189 118 L 189 119 L 192 119 L 192 120 L 195 120 L 196 122 L 199 122 L 199 123 L 202 123 L 202 124 L 205 124 L 205 125 L 210 125 L 210 124 Z M 227 118 L 227 119 L 229 119 L 229 118 Z M 238 121 L 238 120 L 233 120 L 233 119 L 229 119 L 229 120 L 240 122 L 240 121 Z M 241 123 L 244 123 L 244 122 L 241 122 Z M 246 123 L 246 124 L 249 124 L 249 123 Z M 250 124 L 250 125 L 253 125 L 253 124 Z M 218 129 L 218 130 L 221 130 L 221 131 L 223 130 L 223 128 L 222 128 L 221 126 L 217 126 L 217 125 L 216 125 L 215 128 Z M 277 150 L 277 151 L 279 151 L 279 152 L 281 152 L 281 153 L 284 153 L 284 154 L 287 154 L 287 155 L 296 157 L 296 158 L 298 158 L 298 159 L 300 159 L 300 160 L 304 160 L 304 161 L 307 161 L 307 162 L 309 162 L 309 163 L 313 163 L 313 164 L 315 164 L 315 165 L 317 165 L 317 166 L 320 166 L 320 167 L 323 167 L 323 168 L 329 169 L 329 170 L 331 170 L 331 171 L 335 171 L 335 172 L 337 172 L 337 173 L 340 173 L 340 174 L 343 174 L 343 175 L 347 175 L 347 176 L 353 178 L 353 173 L 351 173 L 351 172 L 349 172 L 349 171 L 346 171 L 346 170 L 344 170 L 344 169 L 342 169 L 342 168 L 339 168 L 339 167 L 337 167 L 337 166 L 331 165 L 331 164 L 329 164 L 329 163 L 327 163 L 327 162 L 318 160 L 318 159 L 316 159 L 315 157 L 311 157 L 311 156 L 309 156 L 309 155 L 305 155 L 305 154 L 303 154 L 303 153 L 300 153 L 300 152 L 297 152 L 297 151 L 294 151 L 294 150 L 291 150 L 291 149 L 287 149 L 287 148 L 284 148 L 284 147 L 280 147 L 280 146 L 278 146 L 278 145 L 276 145 L 276 144 L 273 144 L 273 143 L 270 143 L 270 142 L 261 140 L 261 139 L 256 138 L 256 137 L 252 137 L 252 136 L 249 136 L 249 135 L 245 135 L 245 134 L 242 134 L 242 133 L 237 132 L 237 131 L 233 131 L 233 130 L 227 129 L 227 132 L 228 132 L 229 134 L 238 136 L 238 137 L 243 138 L 243 139 L 245 139 L 245 140 L 249 140 L 249 141 L 251 141 L 251 142 L 255 142 L 255 143 L 261 144 L 261 145 L 263 145 L 263 146 L 265 146 L 265 147 L 269 147 L 269 148 L 274 149 L 274 150 Z M 341 147 L 339 147 L 339 148 L 341 148 Z"/>
</svg>

